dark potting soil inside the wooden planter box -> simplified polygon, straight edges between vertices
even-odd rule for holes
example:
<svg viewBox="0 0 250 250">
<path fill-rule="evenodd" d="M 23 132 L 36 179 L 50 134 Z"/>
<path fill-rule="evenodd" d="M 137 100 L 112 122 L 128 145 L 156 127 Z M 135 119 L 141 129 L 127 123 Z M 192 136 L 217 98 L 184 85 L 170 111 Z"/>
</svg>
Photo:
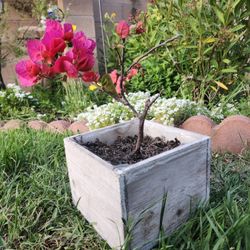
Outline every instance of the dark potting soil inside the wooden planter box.
<svg viewBox="0 0 250 250">
<path fill-rule="evenodd" d="M 80 144 L 113 165 L 133 164 L 173 149 L 181 144 L 176 138 L 166 141 L 164 138 L 160 137 L 152 138 L 150 136 L 145 136 L 140 153 L 131 154 L 135 149 L 136 141 L 137 136 L 135 135 L 125 138 L 117 137 L 112 145 L 107 145 L 98 139 L 95 142 L 80 142 Z"/>
</svg>

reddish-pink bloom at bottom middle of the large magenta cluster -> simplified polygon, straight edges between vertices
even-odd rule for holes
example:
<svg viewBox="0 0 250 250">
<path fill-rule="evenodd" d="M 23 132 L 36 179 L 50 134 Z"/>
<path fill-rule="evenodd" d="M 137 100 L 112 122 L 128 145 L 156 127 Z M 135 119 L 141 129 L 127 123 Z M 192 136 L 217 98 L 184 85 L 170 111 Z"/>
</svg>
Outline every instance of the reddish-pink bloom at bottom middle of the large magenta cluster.
<svg viewBox="0 0 250 250">
<path fill-rule="evenodd" d="M 78 71 L 72 63 L 72 59 L 67 56 L 59 57 L 53 67 L 54 73 L 66 73 L 70 78 L 78 77 Z"/>
</svg>

